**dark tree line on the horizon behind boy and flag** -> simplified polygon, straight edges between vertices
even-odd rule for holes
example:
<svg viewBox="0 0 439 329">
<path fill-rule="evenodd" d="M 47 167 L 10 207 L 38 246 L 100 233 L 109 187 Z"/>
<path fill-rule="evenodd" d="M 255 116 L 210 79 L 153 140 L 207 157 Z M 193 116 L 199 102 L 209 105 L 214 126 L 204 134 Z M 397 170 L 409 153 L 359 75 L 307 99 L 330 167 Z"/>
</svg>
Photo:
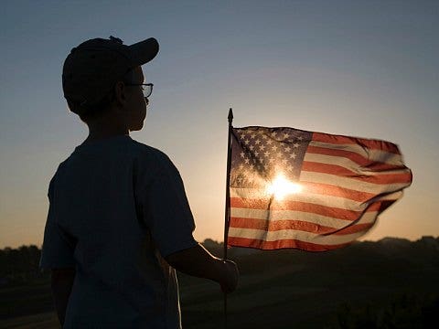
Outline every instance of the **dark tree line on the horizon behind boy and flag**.
<svg viewBox="0 0 439 329">
<path fill-rule="evenodd" d="M 205 239 L 202 244 L 219 257 L 222 255 L 223 244 L 212 239 Z M 366 252 L 367 251 L 367 252 Z M 318 262 L 325 259 L 333 259 L 337 256 L 345 261 L 359 254 L 363 254 L 363 260 L 376 260 L 378 257 L 398 257 L 406 260 L 420 263 L 429 263 L 437 265 L 439 261 L 439 237 L 423 237 L 416 241 L 407 239 L 385 238 L 380 241 L 356 242 L 350 248 L 339 249 L 329 253 L 310 255 L 309 253 L 300 252 L 298 250 L 277 250 L 277 251 L 261 251 L 255 249 L 230 249 L 230 257 L 240 260 L 241 267 L 246 266 L 246 262 L 250 262 L 250 266 L 254 266 L 254 262 L 266 262 L 273 258 L 285 258 L 285 261 L 292 258 L 300 258 L 302 262 L 309 262 L 318 258 Z M 325 254 L 325 255 L 324 255 Z M 366 257 L 364 257 L 366 256 Z M 48 278 L 47 271 L 39 269 L 39 259 L 41 257 L 41 249 L 35 245 L 21 246 L 16 249 L 5 248 L 0 249 L 0 286 L 14 283 L 24 283 L 35 279 Z M 246 261 L 248 260 L 248 261 Z"/>
</svg>

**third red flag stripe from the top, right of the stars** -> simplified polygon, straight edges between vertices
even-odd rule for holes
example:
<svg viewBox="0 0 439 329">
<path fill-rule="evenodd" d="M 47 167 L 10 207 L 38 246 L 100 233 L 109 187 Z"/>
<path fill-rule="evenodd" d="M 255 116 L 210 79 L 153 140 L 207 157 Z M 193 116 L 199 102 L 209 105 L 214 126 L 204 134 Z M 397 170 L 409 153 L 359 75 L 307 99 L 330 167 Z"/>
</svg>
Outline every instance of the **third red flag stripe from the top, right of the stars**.
<svg viewBox="0 0 439 329">
<path fill-rule="evenodd" d="M 379 175 L 360 175 L 352 172 L 345 167 L 337 164 L 320 164 L 316 162 L 304 161 L 302 164 L 302 171 L 323 173 L 330 175 L 339 175 L 356 179 L 361 182 L 372 184 L 396 184 L 396 183 L 410 183 L 412 181 L 412 174 L 410 171 L 402 171 L 398 174 L 379 174 Z"/>
</svg>

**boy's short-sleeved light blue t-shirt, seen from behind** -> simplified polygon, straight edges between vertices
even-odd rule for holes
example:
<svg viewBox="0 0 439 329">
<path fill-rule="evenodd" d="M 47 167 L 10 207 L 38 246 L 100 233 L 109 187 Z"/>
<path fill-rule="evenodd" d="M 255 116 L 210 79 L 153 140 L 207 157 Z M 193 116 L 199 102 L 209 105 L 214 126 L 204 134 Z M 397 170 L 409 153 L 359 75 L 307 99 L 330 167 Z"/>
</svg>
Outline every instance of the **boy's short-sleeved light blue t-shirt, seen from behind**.
<svg viewBox="0 0 439 329">
<path fill-rule="evenodd" d="M 75 148 L 48 188 L 41 268 L 75 267 L 65 328 L 180 328 L 164 257 L 197 245 L 177 168 L 118 135 Z"/>
</svg>

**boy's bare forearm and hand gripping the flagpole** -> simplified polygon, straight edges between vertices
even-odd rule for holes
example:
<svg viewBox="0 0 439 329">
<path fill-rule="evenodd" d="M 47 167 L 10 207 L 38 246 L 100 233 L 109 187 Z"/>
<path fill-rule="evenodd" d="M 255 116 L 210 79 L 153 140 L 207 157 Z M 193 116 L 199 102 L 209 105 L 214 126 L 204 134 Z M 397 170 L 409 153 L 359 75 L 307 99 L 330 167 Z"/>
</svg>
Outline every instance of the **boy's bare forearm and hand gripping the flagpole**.
<svg viewBox="0 0 439 329">
<path fill-rule="evenodd" d="M 236 264 L 214 257 L 199 243 L 195 247 L 172 253 L 165 259 L 177 271 L 218 282 L 223 292 L 233 292 L 238 285 Z"/>
</svg>

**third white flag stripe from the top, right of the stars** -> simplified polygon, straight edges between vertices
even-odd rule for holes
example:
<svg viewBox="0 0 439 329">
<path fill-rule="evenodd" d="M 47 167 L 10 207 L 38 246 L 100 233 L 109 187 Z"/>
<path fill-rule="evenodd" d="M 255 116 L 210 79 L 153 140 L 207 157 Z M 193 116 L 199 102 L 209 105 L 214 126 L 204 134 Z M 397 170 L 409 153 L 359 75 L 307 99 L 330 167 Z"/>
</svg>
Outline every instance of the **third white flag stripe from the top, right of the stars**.
<svg viewBox="0 0 439 329">
<path fill-rule="evenodd" d="M 315 173 L 303 170 L 300 173 L 300 182 L 329 184 L 333 186 L 345 187 L 359 192 L 368 192 L 373 194 L 389 193 L 402 190 L 410 183 L 394 183 L 394 184 L 373 184 L 364 182 L 359 179 L 351 179 L 339 175 L 331 175 L 325 173 Z"/>
</svg>

